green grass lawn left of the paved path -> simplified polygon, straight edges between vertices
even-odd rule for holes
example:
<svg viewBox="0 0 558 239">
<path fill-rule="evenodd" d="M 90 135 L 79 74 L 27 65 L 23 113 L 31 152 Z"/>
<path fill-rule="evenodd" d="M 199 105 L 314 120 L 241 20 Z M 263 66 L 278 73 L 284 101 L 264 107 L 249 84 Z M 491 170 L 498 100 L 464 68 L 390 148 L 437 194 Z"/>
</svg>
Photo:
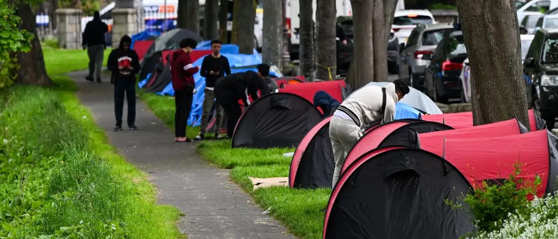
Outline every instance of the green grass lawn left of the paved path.
<svg viewBox="0 0 558 239">
<path fill-rule="evenodd" d="M 57 87 L 0 92 L 0 237 L 183 238 L 180 212 L 156 204 L 76 98 L 64 73 L 86 68 L 85 51 L 44 54 Z"/>
</svg>

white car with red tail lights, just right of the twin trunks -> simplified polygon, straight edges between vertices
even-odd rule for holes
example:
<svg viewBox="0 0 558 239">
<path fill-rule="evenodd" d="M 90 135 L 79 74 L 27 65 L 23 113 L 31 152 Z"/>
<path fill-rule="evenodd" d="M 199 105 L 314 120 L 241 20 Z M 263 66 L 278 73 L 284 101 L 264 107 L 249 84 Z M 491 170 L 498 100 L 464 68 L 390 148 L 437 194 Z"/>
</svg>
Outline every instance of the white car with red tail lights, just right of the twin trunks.
<svg viewBox="0 0 558 239">
<path fill-rule="evenodd" d="M 558 0 L 557 0 L 558 1 Z M 399 42 L 407 42 L 411 31 L 419 24 L 435 24 L 434 16 L 428 10 L 401 10 L 396 11 L 393 17 L 392 30 Z"/>
</svg>

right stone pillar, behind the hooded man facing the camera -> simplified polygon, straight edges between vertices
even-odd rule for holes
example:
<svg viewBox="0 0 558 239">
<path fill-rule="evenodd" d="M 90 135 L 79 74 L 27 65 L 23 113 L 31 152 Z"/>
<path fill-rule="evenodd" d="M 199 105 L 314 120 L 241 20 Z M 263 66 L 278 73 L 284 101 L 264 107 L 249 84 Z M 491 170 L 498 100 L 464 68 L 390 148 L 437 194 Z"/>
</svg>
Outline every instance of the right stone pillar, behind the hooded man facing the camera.
<svg viewBox="0 0 558 239">
<path fill-rule="evenodd" d="M 138 32 L 137 11 L 135 8 L 115 8 L 112 10 L 112 47 L 118 47 L 124 35 L 132 36 Z"/>
</svg>

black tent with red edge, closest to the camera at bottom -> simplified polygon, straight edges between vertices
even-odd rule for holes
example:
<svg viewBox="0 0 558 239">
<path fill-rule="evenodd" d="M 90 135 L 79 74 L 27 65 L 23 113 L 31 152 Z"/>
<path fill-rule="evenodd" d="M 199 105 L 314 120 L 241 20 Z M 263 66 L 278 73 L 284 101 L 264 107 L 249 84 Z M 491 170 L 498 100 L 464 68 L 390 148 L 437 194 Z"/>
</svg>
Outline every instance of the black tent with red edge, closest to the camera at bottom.
<svg viewBox="0 0 558 239">
<path fill-rule="evenodd" d="M 455 166 L 430 152 L 384 147 L 341 174 L 325 211 L 323 238 L 459 238 L 474 230 L 462 203 L 471 193 Z"/>
</svg>

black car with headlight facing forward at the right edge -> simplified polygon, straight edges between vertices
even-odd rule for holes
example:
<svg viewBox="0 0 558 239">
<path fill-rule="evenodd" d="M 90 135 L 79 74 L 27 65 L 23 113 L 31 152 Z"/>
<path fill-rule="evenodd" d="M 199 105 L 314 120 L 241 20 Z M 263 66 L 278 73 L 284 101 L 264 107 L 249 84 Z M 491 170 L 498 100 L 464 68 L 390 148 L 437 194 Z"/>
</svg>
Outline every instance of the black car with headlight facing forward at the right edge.
<svg viewBox="0 0 558 239">
<path fill-rule="evenodd" d="M 558 30 L 535 34 L 523 61 L 527 101 L 541 113 L 547 128 L 554 128 L 558 116 Z"/>
</svg>

